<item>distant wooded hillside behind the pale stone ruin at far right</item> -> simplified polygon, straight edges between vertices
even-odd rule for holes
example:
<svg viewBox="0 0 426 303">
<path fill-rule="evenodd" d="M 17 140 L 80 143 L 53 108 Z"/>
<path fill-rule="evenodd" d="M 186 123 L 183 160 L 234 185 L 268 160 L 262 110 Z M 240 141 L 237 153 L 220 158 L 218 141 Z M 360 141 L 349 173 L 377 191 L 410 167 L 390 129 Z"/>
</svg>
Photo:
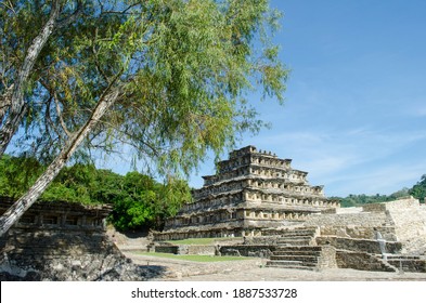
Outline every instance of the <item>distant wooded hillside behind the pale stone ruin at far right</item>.
<svg viewBox="0 0 426 303">
<path fill-rule="evenodd" d="M 426 174 L 422 175 L 421 181 L 418 181 L 411 188 L 402 188 L 390 195 L 349 195 L 346 198 L 343 197 L 331 197 L 332 199 L 336 199 L 340 201 L 341 207 L 361 207 L 366 203 L 379 203 L 392 201 L 398 198 L 413 196 L 418 199 L 422 203 L 425 202 L 426 197 Z"/>
</svg>

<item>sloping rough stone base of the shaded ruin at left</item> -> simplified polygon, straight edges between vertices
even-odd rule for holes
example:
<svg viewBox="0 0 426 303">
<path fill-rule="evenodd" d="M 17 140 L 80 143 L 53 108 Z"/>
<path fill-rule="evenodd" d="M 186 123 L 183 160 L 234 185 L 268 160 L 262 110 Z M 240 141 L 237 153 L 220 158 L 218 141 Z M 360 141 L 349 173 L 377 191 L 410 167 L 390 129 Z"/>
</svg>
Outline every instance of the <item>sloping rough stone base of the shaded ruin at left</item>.
<svg viewBox="0 0 426 303">
<path fill-rule="evenodd" d="M 9 233 L 2 250 L 2 280 L 145 279 L 144 273 L 99 232 L 15 229 Z"/>
</svg>

